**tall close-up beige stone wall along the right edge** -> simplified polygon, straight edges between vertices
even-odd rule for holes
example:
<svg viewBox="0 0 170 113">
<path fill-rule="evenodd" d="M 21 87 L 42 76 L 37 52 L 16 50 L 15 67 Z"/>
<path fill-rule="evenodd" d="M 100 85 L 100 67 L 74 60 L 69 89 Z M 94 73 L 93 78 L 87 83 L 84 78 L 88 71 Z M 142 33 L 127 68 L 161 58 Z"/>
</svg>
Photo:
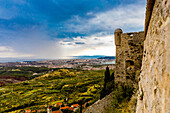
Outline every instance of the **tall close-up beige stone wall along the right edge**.
<svg viewBox="0 0 170 113">
<path fill-rule="evenodd" d="M 170 0 L 148 0 L 137 113 L 170 113 Z"/>
</svg>

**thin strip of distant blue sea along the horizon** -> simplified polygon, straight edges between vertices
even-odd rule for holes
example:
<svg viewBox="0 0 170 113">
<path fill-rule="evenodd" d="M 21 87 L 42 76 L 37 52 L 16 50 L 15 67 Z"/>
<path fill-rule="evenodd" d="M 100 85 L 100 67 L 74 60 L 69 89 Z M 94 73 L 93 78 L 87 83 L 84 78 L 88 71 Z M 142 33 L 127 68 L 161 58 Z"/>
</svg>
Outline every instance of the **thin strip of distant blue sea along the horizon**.
<svg viewBox="0 0 170 113">
<path fill-rule="evenodd" d="M 61 58 L 62 59 L 62 58 Z M 63 59 L 115 59 L 115 56 L 104 56 L 104 55 L 94 55 L 94 56 L 70 56 Z M 24 61 L 45 61 L 45 60 L 59 60 L 59 59 L 29 59 L 29 58 L 0 58 L 0 63 L 5 62 L 24 62 Z"/>
</svg>

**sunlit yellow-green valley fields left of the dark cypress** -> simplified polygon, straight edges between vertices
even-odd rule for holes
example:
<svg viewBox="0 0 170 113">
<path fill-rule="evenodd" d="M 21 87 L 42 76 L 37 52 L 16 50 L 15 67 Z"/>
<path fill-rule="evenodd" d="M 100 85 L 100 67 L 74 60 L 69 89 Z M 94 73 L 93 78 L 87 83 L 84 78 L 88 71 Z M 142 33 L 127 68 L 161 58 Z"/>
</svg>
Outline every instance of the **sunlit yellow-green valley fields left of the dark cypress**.
<svg viewBox="0 0 170 113">
<path fill-rule="evenodd" d="M 13 72 L 28 72 L 30 69 L 32 72 L 29 73 L 49 71 L 47 68 L 34 70 L 34 68 L 25 67 L 25 69 L 15 69 Z M 24 76 L 27 77 L 27 74 Z M 0 111 L 18 110 L 20 112 L 25 109 L 46 109 L 47 105 L 58 102 L 72 105 L 90 101 L 89 104 L 92 104 L 100 98 L 103 75 L 104 70 L 55 69 L 31 80 L 1 86 Z M 68 98 L 67 101 L 66 98 Z"/>
</svg>

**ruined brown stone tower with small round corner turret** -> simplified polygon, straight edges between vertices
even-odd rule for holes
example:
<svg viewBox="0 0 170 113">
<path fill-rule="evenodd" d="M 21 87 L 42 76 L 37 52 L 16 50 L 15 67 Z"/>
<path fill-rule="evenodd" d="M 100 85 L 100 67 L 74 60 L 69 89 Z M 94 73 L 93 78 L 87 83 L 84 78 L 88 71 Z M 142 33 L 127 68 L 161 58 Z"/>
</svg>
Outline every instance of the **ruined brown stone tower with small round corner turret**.
<svg viewBox="0 0 170 113">
<path fill-rule="evenodd" d="M 116 45 L 116 82 L 127 82 L 141 69 L 143 56 L 144 32 L 123 33 L 115 30 Z"/>
</svg>

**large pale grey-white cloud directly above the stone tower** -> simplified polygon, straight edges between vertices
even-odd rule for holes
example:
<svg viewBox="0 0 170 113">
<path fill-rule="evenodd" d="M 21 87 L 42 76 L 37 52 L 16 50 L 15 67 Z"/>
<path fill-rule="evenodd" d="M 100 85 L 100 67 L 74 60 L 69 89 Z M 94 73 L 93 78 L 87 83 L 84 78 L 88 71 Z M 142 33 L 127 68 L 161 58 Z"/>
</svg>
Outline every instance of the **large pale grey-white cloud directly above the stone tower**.
<svg viewBox="0 0 170 113">
<path fill-rule="evenodd" d="M 135 11 L 135 12 L 134 12 Z M 67 27 L 72 32 L 113 32 L 117 27 L 125 32 L 143 30 L 145 7 L 140 4 L 120 6 L 106 12 L 94 14 L 94 18 L 83 19 L 76 16 Z M 75 22 L 79 24 L 74 24 Z"/>
</svg>

